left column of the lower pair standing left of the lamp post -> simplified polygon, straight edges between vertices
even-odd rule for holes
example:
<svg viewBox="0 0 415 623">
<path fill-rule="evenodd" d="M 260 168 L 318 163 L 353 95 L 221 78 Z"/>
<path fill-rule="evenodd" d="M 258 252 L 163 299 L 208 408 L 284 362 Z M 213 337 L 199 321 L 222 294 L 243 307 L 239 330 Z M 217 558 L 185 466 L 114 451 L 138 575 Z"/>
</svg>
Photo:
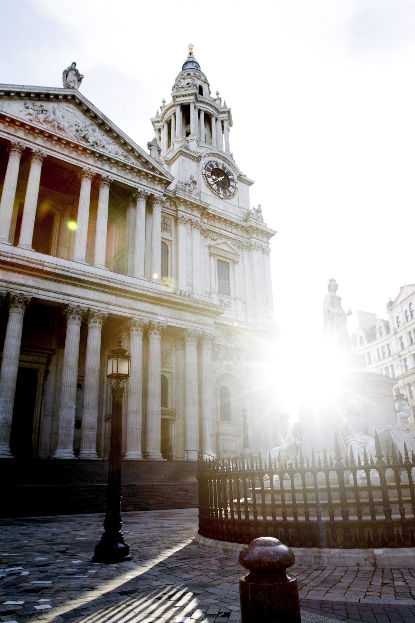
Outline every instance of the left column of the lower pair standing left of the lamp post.
<svg viewBox="0 0 415 623">
<path fill-rule="evenodd" d="M 58 416 L 58 442 L 54 459 L 75 459 L 73 454 L 73 428 L 77 402 L 79 338 L 85 309 L 77 305 L 64 310 L 67 318 L 67 335 L 63 351 L 62 380 L 60 383 L 60 406 Z"/>
</svg>

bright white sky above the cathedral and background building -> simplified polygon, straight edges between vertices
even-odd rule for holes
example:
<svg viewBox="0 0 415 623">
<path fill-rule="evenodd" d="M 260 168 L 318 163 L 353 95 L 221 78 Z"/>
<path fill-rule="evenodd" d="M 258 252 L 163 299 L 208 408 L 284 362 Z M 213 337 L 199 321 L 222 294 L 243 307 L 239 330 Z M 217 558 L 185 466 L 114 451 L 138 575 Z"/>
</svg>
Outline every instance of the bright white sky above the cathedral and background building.
<svg viewBox="0 0 415 623">
<path fill-rule="evenodd" d="M 329 278 L 346 310 L 383 317 L 415 282 L 415 2 L 0 6 L 0 82 L 60 87 L 75 60 L 81 92 L 144 148 L 194 44 L 212 92 L 232 107 L 231 151 L 256 181 L 251 204 L 278 232 L 276 318 L 297 366 L 313 359 Z"/>
</svg>

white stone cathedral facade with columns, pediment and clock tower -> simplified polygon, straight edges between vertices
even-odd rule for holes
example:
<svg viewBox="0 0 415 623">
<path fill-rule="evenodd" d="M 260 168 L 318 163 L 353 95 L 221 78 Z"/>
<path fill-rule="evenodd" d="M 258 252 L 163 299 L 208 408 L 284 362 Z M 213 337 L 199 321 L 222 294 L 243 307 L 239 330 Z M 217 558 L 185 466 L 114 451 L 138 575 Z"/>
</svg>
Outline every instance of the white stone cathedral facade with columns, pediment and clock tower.
<svg viewBox="0 0 415 623">
<path fill-rule="evenodd" d="M 0 457 L 108 457 L 119 340 L 124 459 L 274 445 L 275 232 L 189 49 L 150 155 L 75 63 L 63 88 L 0 85 Z"/>
</svg>

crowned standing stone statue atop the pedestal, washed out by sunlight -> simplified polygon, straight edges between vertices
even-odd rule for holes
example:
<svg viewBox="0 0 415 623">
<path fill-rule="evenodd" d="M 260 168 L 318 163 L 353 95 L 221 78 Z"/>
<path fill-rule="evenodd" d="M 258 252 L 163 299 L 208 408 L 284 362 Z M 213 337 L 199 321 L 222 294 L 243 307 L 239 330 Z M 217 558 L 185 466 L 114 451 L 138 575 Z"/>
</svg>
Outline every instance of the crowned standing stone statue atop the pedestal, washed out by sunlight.
<svg viewBox="0 0 415 623">
<path fill-rule="evenodd" d="M 350 340 L 347 333 L 347 317 L 352 311 L 346 313 L 342 308 L 342 298 L 337 295 L 338 285 L 335 279 L 329 279 L 323 303 L 324 336 L 340 351 L 350 351 Z"/>
</svg>

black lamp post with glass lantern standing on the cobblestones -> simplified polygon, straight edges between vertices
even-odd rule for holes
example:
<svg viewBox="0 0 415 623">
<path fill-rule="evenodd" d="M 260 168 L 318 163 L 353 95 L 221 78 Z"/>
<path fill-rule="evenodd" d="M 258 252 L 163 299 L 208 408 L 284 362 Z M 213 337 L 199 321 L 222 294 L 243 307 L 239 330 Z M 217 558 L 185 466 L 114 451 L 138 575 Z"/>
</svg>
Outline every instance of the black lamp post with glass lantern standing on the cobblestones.
<svg viewBox="0 0 415 623">
<path fill-rule="evenodd" d="M 131 560 L 129 546 L 121 533 L 121 439 L 123 430 L 124 383 L 130 375 L 131 355 L 121 346 L 108 355 L 106 378 L 113 394 L 111 416 L 110 464 L 108 465 L 108 487 L 106 488 L 105 532 L 95 546 L 93 563 L 121 563 Z"/>
</svg>

